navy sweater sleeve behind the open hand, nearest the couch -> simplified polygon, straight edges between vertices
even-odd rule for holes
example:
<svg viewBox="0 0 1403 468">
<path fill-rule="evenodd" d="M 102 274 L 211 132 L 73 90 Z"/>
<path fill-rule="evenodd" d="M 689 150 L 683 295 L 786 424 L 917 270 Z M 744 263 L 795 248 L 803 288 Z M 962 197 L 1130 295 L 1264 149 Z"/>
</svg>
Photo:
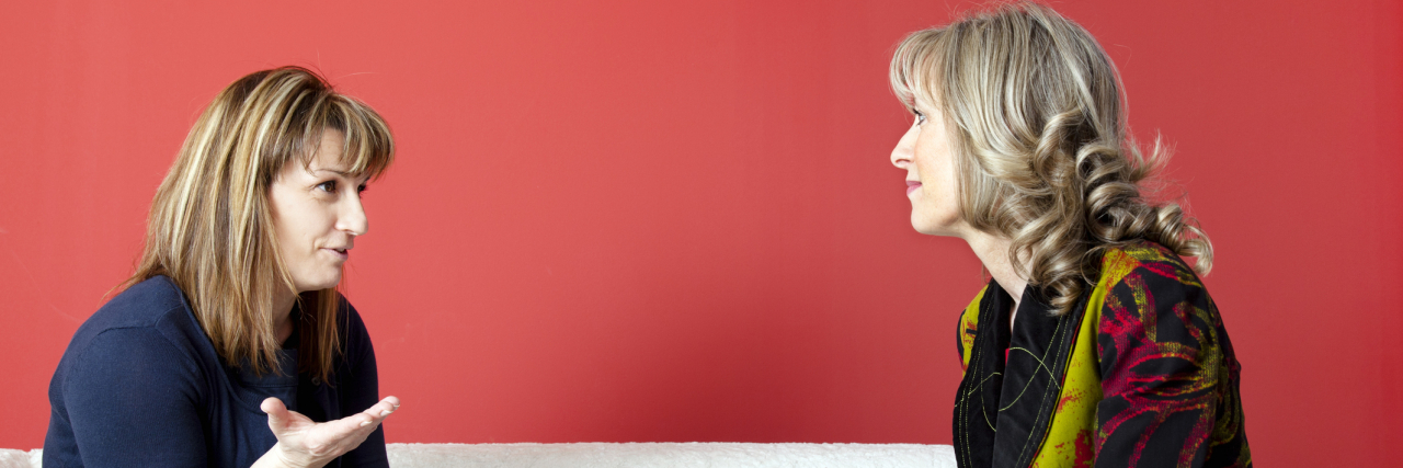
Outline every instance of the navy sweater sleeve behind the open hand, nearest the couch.
<svg viewBox="0 0 1403 468">
<path fill-rule="evenodd" d="M 354 307 L 347 317 L 347 367 L 338 377 L 342 388 L 341 415 L 355 415 L 380 401 L 380 377 L 375 367 L 375 346 L 370 333 Z M 393 419 L 393 418 L 391 418 Z M 389 422 L 389 420 L 387 420 Z M 384 453 L 384 425 L 380 425 L 359 447 L 341 457 L 342 467 L 390 467 Z"/>
</svg>

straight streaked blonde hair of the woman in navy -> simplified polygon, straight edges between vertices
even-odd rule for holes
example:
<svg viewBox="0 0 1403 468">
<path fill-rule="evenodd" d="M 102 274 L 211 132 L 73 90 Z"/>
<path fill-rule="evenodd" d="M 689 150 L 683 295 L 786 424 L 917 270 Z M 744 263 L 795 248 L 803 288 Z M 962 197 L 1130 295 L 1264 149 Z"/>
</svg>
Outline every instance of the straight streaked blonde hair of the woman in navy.
<svg viewBox="0 0 1403 468">
<path fill-rule="evenodd" d="M 281 373 L 272 301 L 297 290 L 278 258 L 268 189 L 285 164 L 311 164 L 325 130 L 345 136 L 341 163 L 356 177 L 377 177 L 394 158 L 384 119 L 311 70 L 262 70 L 220 91 L 156 191 L 146 248 L 123 286 L 170 276 L 226 363 Z M 297 301 L 299 373 L 325 381 L 344 300 L 333 287 Z"/>
</svg>

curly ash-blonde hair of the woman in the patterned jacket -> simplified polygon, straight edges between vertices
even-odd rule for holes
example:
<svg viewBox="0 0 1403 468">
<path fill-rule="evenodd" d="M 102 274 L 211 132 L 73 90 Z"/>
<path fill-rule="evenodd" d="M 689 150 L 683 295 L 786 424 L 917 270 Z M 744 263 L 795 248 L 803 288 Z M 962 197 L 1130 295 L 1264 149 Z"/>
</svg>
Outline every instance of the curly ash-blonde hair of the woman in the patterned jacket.
<svg viewBox="0 0 1403 468">
<path fill-rule="evenodd" d="M 1049 293 L 1054 315 L 1097 282 L 1111 248 L 1148 240 L 1212 268 L 1197 221 L 1142 193 L 1169 151 L 1156 139 L 1141 153 L 1115 66 L 1056 11 L 1005 4 L 916 31 L 892 56 L 891 85 L 908 106 L 943 111 L 961 216 L 1012 241 L 1014 269 Z"/>
</svg>

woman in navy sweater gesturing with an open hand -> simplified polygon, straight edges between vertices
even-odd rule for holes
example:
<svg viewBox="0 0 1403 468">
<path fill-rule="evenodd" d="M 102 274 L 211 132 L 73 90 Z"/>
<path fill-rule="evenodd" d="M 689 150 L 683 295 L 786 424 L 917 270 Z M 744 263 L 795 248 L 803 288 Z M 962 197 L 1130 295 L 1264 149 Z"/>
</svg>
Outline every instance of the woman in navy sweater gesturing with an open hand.
<svg viewBox="0 0 1403 468">
<path fill-rule="evenodd" d="M 389 467 L 375 349 L 337 293 L 394 158 L 384 121 L 316 73 L 229 85 L 152 203 L 126 289 L 49 385 L 45 467 Z"/>
</svg>

